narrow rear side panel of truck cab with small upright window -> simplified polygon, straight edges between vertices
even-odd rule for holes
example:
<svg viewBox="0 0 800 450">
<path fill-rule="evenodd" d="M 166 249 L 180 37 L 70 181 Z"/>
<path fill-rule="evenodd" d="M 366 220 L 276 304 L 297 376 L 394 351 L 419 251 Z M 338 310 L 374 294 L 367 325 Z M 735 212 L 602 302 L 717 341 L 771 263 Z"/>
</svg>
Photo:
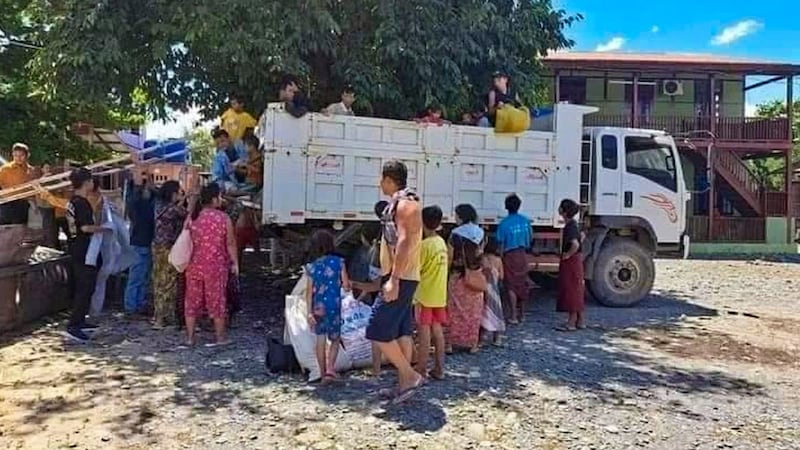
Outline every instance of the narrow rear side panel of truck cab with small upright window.
<svg viewBox="0 0 800 450">
<path fill-rule="evenodd" d="M 618 216 L 622 211 L 622 145 L 613 131 L 595 135 L 595 183 L 591 212 L 594 215 Z"/>
</svg>

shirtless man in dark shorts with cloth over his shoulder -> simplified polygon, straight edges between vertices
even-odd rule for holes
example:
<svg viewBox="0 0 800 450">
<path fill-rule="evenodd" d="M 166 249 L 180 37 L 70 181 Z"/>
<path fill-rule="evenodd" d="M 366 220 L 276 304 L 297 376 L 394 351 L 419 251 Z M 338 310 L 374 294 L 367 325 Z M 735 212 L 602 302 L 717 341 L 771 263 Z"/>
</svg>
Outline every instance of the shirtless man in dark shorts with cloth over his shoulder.
<svg viewBox="0 0 800 450">
<path fill-rule="evenodd" d="M 408 185 L 408 169 L 400 161 L 383 165 L 381 190 L 391 197 L 381 224 L 381 275 L 383 292 L 373 307 L 366 336 L 377 343 L 397 369 L 396 388 L 380 392 L 401 403 L 414 395 L 425 379 L 412 367 L 412 316 L 414 292 L 420 279 L 422 212 L 419 197 Z"/>
</svg>

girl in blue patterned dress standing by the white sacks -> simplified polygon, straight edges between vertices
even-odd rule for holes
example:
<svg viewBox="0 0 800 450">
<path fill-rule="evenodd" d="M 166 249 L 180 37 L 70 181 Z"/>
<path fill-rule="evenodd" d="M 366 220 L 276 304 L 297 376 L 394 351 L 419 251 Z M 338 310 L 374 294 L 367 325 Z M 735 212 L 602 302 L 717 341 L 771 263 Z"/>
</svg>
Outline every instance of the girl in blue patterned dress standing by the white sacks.
<svg viewBox="0 0 800 450">
<path fill-rule="evenodd" d="M 314 232 L 310 245 L 314 260 L 306 266 L 308 323 L 317 336 L 317 364 L 323 384 L 339 378 L 336 357 L 342 334 L 342 288 L 351 289 L 344 258 L 336 254 L 334 239 L 328 230 Z"/>
</svg>

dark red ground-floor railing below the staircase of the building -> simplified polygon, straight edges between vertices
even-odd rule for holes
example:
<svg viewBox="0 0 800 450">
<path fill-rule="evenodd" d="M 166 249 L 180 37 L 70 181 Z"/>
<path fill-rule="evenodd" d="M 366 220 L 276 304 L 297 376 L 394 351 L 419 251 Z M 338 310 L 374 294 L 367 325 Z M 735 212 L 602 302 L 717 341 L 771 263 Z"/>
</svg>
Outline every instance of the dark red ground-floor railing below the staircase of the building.
<svg viewBox="0 0 800 450">
<path fill-rule="evenodd" d="M 766 229 L 763 217 L 714 217 L 712 230 L 708 229 L 708 216 L 686 219 L 686 231 L 692 242 L 763 243 Z"/>
</svg>

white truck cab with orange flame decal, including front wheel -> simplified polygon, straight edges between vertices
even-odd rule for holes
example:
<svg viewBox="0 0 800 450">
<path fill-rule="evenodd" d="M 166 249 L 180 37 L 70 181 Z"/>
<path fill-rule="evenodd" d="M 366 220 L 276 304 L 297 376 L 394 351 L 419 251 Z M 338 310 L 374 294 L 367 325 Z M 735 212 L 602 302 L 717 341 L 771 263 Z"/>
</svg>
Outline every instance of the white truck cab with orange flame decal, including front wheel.
<svg viewBox="0 0 800 450">
<path fill-rule="evenodd" d="M 581 193 L 589 289 L 604 304 L 634 304 L 652 288 L 656 253 L 688 247 L 689 194 L 675 141 L 663 131 L 588 127 L 583 158 L 582 184 L 592 177 Z"/>
</svg>

